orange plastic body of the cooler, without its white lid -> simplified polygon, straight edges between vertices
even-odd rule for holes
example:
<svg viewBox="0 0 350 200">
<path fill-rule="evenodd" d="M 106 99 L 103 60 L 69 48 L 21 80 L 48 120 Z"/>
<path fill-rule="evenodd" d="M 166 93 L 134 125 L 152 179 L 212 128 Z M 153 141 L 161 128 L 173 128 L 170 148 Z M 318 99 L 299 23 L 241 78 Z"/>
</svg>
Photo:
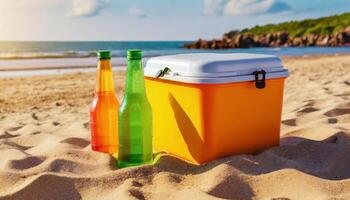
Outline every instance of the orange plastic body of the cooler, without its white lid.
<svg viewBox="0 0 350 200">
<path fill-rule="evenodd" d="M 188 84 L 146 78 L 153 145 L 195 164 L 279 144 L 284 78 Z"/>
</svg>

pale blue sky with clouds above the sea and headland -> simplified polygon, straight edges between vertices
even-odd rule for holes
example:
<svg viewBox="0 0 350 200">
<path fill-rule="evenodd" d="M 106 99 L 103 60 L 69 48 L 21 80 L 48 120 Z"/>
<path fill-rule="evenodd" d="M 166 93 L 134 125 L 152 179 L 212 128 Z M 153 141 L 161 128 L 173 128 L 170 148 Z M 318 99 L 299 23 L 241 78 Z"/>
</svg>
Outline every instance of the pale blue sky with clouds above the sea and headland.
<svg viewBox="0 0 350 200">
<path fill-rule="evenodd" d="M 0 40 L 194 40 L 350 11 L 350 0 L 0 0 Z"/>
</svg>

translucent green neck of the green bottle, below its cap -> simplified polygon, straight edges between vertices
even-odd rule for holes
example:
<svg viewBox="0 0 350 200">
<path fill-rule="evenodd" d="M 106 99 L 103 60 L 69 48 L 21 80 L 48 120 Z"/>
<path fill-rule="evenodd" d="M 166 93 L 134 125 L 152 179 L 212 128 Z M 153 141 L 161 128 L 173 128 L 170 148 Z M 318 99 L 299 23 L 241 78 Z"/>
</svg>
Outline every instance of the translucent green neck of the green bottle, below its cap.
<svg viewBox="0 0 350 200">
<path fill-rule="evenodd" d="M 145 80 L 143 76 L 142 62 L 140 60 L 128 60 L 126 70 L 125 94 L 144 94 Z"/>
</svg>

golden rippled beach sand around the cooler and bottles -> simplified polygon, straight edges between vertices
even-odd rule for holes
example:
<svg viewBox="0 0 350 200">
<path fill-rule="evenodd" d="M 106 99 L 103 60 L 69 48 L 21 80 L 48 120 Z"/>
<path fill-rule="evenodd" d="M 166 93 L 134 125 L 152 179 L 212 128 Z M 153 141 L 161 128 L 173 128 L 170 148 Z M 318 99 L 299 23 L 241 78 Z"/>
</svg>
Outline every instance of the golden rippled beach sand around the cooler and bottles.
<svg viewBox="0 0 350 200">
<path fill-rule="evenodd" d="M 202 166 L 92 152 L 93 73 L 0 79 L 0 199 L 350 199 L 350 55 L 283 63 L 281 145 Z"/>
</svg>

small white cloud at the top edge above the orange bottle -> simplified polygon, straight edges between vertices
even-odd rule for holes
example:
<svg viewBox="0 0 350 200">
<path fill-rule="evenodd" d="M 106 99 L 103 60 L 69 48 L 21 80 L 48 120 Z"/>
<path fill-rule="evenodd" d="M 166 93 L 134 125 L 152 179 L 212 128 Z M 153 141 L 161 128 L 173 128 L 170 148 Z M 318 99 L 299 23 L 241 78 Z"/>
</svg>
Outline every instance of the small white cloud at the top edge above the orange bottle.
<svg viewBox="0 0 350 200">
<path fill-rule="evenodd" d="M 110 3 L 110 0 L 72 0 L 70 17 L 92 17 L 98 15 Z"/>
</svg>

